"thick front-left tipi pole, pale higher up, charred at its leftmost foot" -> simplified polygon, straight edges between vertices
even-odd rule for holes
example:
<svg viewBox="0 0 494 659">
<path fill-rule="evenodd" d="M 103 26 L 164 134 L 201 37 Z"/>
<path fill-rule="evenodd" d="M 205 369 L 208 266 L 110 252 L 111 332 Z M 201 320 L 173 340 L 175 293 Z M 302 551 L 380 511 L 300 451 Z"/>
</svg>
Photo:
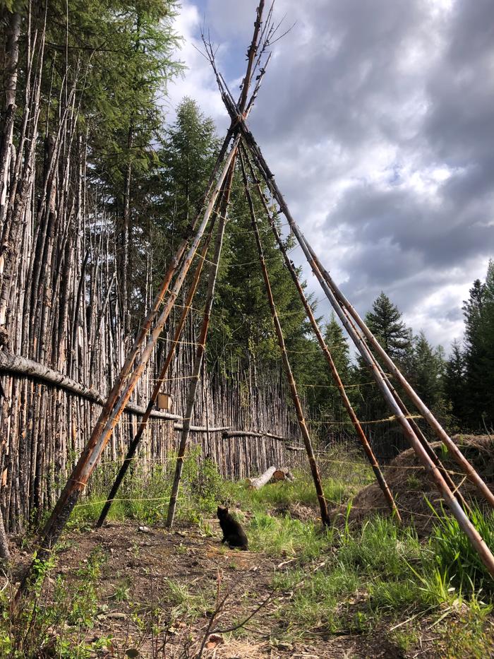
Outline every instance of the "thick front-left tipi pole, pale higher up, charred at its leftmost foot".
<svg viewBox="0 0 494 659">
<path fill-rule="evenodd" d="M 222 189 L 224 180 L 227 177 L 227 172 L 229 172 L 231 162 L 234 159 L 234 155 L 236 154 L 236 150 L 239 146 L 239 141 L 240 135 L 237 135 L 227 160 L 224 163 L 222 173 L 220 174 L 217 184 L 215 185 L 215 189 L 212 192 L 209 203 L 207 204 L 205 213 L 203 215 L 203 220 L 195 234 L 191 247 L 188 249 L 188 252 L 183 259 L 181 269 L 176 276 L 174 286 L 169 292 L 169 297 L 164 305 L 164 309 L 162 310 L 159 319 L 157 319 L 155 327 L 150 333 L 150 338 L 147 340 L 147 344 L 145 345 L 143 352 L 141 353 L 137 362 L 135 362 L 133 372 L 128 376 L 128 380 L 126 381 L 126 386 L 123 389 L 123 392 L 116 400 L 116 403 L 113 406 L 113 410 L 109 415 L 107 422 L 104 424 L 102 432 L 93 431 L 90 441 L 88 441 L 88 444 L 85 446 L 85 449 L 81 454 L 79 461 L 71 474 L 71 477 L 69 477 L 64 490 L 61 492 L 59 501 L 57 501 L 54 511 L 52 512 L 52 516 L 49 518 L 47 526 L 44 530 L 44 537 L 42 538 L 39 549 L 37 551 L 37 562 L 45 561 L 49 557 L 52 547 L 59 540 L 61 532 L 65 528 L 73 507 L 76 505 L 80 494 L 82 494 L 83 490 L 85 489 L 89 477 L 97 465 L 101 453 L 104 450 L 104 447 L 107 445 L 107 442 L 112 435 L 113 429 L 118 422 L 126 406 L 126 403 L 131 397 L 138 379 L 143 373 L 145 365 L 147 364 L 147 361 L 152 354 L 152 350 L 156 345 L 159 335 L 162 333 L 164 323 L 167 321 L 171 308 L 174 306 L 177 295 L 179 295 L 181 285 L 183 284 L 183 280 L 185 279 L 188 269 L 191 266 L 200 239 L 203 237 L 205 227 L 210 219 L 210 215 L 217 201 L 219 191 Z M 118 396 L 118 393 L 119 392 L 116 392 L 115 398 Z M 97 422 L 97 427 L 101 424 L 102 420 L 99 420 Z M 20 583 L 16 593 L 16 598 L 13 601 L 14 608 L 18 606 L 21 598 L 23 597 L 23 594 L 28 589 L 34 565 L 35 563 L 33 562 L 30 566 L 30 569 L 25 574 L 23 580 Z"/>
</svg>

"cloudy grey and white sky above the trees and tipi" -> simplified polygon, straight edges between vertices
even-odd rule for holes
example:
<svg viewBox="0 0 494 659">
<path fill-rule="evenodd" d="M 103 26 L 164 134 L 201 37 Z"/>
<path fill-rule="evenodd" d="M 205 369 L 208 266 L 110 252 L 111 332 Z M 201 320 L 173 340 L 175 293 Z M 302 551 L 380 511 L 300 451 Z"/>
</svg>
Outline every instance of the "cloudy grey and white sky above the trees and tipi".
<svg viewBox="0 0 494 659">
<path fill-rule="evenodd" d="M 205 22 L 238 87 L 256 4 L 182 0 L 188 71 L 170 85 L 170 118 L 188 95 L 224 132 L 194 45 Z M 275 44 L 249 124 L 294 217 L 362 314 L 384 290 L 448 350 L 494 257 L 493 1 L 276 0 L 275 15 L 294 27 Z"/>
</svg>

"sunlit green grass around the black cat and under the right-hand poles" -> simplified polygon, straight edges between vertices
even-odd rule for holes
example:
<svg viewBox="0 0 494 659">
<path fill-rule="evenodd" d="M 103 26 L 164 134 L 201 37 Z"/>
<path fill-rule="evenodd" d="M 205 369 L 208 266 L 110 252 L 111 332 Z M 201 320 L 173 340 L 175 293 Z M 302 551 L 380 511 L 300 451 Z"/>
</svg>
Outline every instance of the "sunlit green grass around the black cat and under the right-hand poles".
<svg viewBox="0 0 494 659">
<path fill-rule="evenodd" d="M 351 497 L 373 480 L 361 459 L 349 456 L 345 464 L 342 458 L 332 453 L 321 468 L 330 507 L 351 506 Z M 123 500 L 114 503 L 110 518 L 163 523 L 173 468 L 173 460 L 150 473 L 135 467 L 133 477 L 126 479 L 119 492 Z M 102 507 L 98 501 L 104 499 L 109 487 L 104 479 L 111 475 L 109 468 L 92 483 L 90 497 L 83 501 L 89 505 L 78 506 L 73 526 L 83 526 L 97 517 Z M 418 484 L 409 482 L 409 486 L 415 489 Z M 493 582 L 452 518 L 438 516 L 430 539 L 422 542 L 414 528 L 399 528 L 381 516 L 359 528 L 347 523 L 342 530 L 325 529 L 318 520 L 318 500 L 306 471 L 296 471 L 294 482 L 251 491 L 243 482 L 224 481 L 213 463 L 200 463 L 197 451 L 192 451 L 183 467 L 177 518 L 197 523 L 205 537 L 219 535 L 217 523 L 209 521 L 215 518 L 218 504 L 239 509 L 249 550 L 284 564 L 273 579 L 273 586 L 284 598 L 277 633 L 292 637 L 365 633 L 383 624 L 393 627 L 392 622 L 428 617 L 441 656 L 466 657 L 468 651 L 473 657 L 490 654 L 486 648 L 490 643 Z M 291 516 L 303 513 L 301 506 L 313 511 L 310 519 Z M 488 545 L 494 546 L 494 514 L 483 516 L 479 509 L 473 514 Z M 118 593 L 119 598 L 125 596 L 125 592 Z M 200 615 L 205 607 L 203 595 L 189 591 L 184 584 L 170 582 L 169 597 L 176 617 L 186 610 Z M 454 640 L 451 629 L 455 630 Z M 405 651 L 416 643 L 417 631 L 413 625 L 404 624 L 389 638 Z"/>
</svg>

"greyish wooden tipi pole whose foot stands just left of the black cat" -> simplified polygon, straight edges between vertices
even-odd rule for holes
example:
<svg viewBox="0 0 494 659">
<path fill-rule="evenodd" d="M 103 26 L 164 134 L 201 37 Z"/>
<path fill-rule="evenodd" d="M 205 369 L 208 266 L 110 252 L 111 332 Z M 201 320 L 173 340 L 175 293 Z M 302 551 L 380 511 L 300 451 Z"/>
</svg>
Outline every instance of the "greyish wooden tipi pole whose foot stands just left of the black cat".
<svg viewBox="0 0 494 659">
<path fill-rule="evenodd" d="M 231 161 L 230 170 L 226 182 L 226 188 L 224 189 L 223 192 L 221 208 L 219 211 L 219 225 L 218 225 L 218 232 L 215 241 L 215 255 L 213 256 L 212 259 L 209 280 L 207 282 L 207 295 L 206 295 L 206 302 L 205 302 L 204 315 L 203 315 L 203 324 L 200 328 L 198 347 L 197 350 L 195 351 L 195 360 L 193 366 L 191 385 L 189 386 L 188 389 L 186 414 L 185 417 L 183 418 L 183 428 L 180 438 L 179 453 L 176 457 L 174 480 L 173 480 L 173 484 L 171 485 L 171 494 L 168 505 L 168 514 L 167 514 L 167 526 L 169 528 L 173 526 L 174 523 L 176 499 L 179 494 L 179 486 L 180 486 L 180 480 L 183 470 L 183 458 L 185 457 L 188 436 L 191 431 L 191 419 L 194 410 L 195 396 L 197 395 L 197 391 L 198 391 L 200 369 L 203 366 L 204 353 L 206 349 L 207 330 L 209 328 L 209 323 L 211 318 L 212 303 L 213 300 L 215 299 L 215 285 L 216 285 L 218 269 L 219 269 L 219 259 L 221 258 L 221 253 L 222 253 L 224 227 L 227 223 L 228 204 L 230 198 L 231 180 L 234 177 L 234 167 L 235 167 L 235 159 Z"/>
</svg>

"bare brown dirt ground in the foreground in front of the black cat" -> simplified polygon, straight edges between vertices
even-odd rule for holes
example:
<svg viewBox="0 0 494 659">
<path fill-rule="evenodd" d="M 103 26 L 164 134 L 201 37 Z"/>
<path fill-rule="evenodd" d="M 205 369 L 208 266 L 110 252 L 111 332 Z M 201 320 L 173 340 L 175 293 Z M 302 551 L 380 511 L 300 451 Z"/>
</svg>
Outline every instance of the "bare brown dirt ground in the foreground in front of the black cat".
<svg viewBox="0 0 494 659">
<path fill-rule="evenodd" d="M 215 529 L 217 523 L 211 520 Z M 214 526 L 215 525 L 215 526 Z M 216 529 L 215 529 L 216 530 Z M 219 530 L 219 529 L 218 529 Z M 95 657 L 181 658 L 196 655 L 205 638 L 212 611 L 218 576 L 221 597 L 229 593 L 224 610 L 211 629 L 228 629 L 245 619 L 271 591 L 277 571 L 287 569 L 289 561 L 273 560 L 260 553 L 230 550 L 220 543 L 219 534 L 205 537 L 195 525 L 179 525 L 173 530 L 139 528 L 137 523 L 109 523 L 100 530 L 71 534 L 70 542 L 59 555 L 50 581 L 63 574 L 68 584 L 78 579 L 77 567 L 84 565 L 90 553 L 101 547 L 106 554 L 101 569 L 98 613 L 86 641 L 112 636 L 113 651 Z M 27 559 L 23 557 L 23 562 Z M 170 596 L 170 582 L 179 583 L 193 595 L 204 593 L 210 607 L 203 609 L 194 622 L 188 622 L 188 602 L 182 602 L 183 615 L 171 621 L 171 610 L 180 605 Z M 116 595 L 124 594 L 124 597 Z M 283 607 L 293 593 L 277 592 L 254 617 L 241 635 L 213 636 L 205 658 L 383 658 L 405 655 L 387 641 L 384 629 L 373 634 L 329 635 L 321 631 L 303 636 L 303 640 L 286 640 Z M 178 598 L 180 600 L 180 598 Z M 158 634 L 151 633 L 151 627 Z M 152 639 L 155 639 L 153 641 Z M 184 653 L 183 648 L 188 648 Z M 133 653 L 138 651 L 138 654 Z M 427 643 L 419 653 L 409 657 L 428 658 Z"/>
</svg>

